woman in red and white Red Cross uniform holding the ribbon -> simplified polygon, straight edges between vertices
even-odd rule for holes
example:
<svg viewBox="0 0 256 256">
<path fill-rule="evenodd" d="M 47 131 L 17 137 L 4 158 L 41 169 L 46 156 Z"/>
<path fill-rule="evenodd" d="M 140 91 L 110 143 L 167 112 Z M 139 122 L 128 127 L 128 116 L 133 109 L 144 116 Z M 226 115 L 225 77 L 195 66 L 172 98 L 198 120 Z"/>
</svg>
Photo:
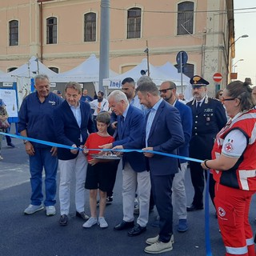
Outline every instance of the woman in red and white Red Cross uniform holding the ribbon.
<svg viewBox="0 0 256 256">
<path fill-rule="evenodd" d="M 203 169 L 214 174 L 214 203 L 226 255 L 255 256 L 253 232 L 248 220 L 250 201 L 256 191 L 256 110 L 251 88 L 230 82 L 222 103 L 230 117 L 218 133 L 212 160 Z"/>
</svg>

